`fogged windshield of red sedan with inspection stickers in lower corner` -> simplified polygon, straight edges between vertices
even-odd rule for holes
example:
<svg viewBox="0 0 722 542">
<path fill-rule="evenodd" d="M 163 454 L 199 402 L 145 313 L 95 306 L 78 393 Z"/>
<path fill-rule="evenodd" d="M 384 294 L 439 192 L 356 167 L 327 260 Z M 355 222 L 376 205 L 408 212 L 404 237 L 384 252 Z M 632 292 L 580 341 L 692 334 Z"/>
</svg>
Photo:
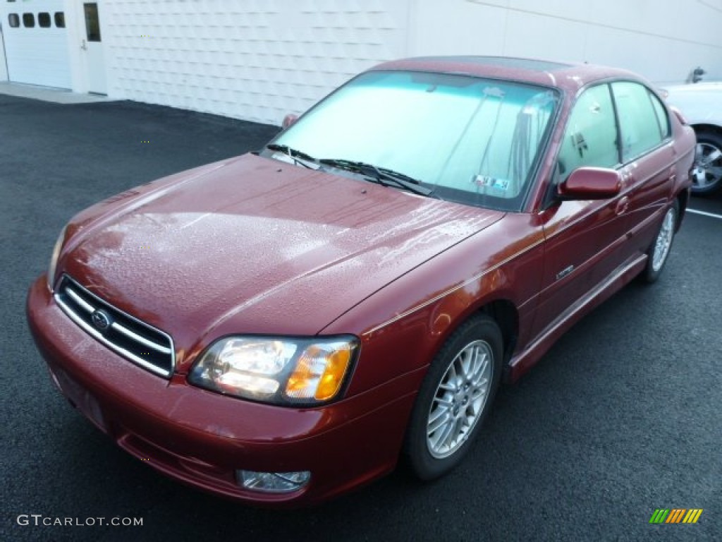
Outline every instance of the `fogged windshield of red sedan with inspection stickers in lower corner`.
<svg viewBox="0 0 722 542">
<path fill-rule="evenodd" d="M 426 72 L 367 72 L 274 142 L 403 173 L 455 202 L 519 210 L 557 94 Z"/>
</svg>

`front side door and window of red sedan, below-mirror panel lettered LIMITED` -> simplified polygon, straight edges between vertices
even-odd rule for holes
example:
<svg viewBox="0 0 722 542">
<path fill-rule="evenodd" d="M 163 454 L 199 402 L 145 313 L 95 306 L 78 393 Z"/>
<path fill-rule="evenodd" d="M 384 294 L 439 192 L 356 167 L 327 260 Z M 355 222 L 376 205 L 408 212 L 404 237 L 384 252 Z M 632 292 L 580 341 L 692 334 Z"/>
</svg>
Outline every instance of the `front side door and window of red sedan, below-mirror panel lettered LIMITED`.
<svg viewBox="0 0 722 542">
<path fill-rule="evenodd" d="M 577 168 L 618 168 L 617 119 L 609 85 L 588 88 L 570 113 L 557 157 L 558 184 Z M 534 332 L 544 335 L 624 261 L 624 194 L 596 201 L 554 202 L 539 215 L 544 227 L 544 271 Z"/>
</svg>

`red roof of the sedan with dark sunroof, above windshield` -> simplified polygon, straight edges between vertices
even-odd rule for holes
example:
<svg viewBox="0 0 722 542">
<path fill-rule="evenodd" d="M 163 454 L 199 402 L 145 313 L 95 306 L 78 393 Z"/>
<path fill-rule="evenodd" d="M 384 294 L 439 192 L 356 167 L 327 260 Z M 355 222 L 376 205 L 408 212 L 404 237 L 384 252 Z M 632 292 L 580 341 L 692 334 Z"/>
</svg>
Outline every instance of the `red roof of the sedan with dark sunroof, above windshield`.
<svg viewBox="0 0 722 542">
<path fill-rule="evenodd" d="M 609 66 L 510 56 L 420 56 L 385 62 L 371 70 L 438 72 L 509 79 L 557 87 L 572 93 L 590 82 L 601 79 L 643 80 L 625 69 Z"/>
</svg>

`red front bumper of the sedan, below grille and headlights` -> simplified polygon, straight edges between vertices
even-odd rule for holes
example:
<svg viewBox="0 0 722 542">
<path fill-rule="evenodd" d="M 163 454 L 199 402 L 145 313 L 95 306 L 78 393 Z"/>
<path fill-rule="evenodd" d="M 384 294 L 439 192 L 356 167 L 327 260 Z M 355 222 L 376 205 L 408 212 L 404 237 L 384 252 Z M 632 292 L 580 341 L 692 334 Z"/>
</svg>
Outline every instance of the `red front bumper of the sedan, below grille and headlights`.
<svg viewBox="0 0 722 542">
<path fill-rule="evenodd" d="M 66 317 L 44 276 L 28 293 L 27 319 L 53 381 L 118 445 L 172 478 L 255 504 L 313 504 L 388 473 L 419 382 L 408 374 L 323 408 L 261 405 L 131 364 Z M 309 470 L 311 479 L 264 494 L 239 486 L 238 469 Z"/>
</svg>

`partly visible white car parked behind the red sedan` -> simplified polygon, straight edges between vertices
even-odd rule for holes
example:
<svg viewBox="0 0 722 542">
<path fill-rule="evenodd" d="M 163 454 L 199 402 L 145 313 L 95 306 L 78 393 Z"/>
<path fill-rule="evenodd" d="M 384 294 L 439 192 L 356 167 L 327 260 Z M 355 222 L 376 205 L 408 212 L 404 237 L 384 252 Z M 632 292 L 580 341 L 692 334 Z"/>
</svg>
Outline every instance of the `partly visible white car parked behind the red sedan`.
<svg viewBox="0 0 722 542">
<path fill-rule="evenodd" d="M 672 85 L 663 93 L 697 134 L 692 193 L 716 192 L 722 188 L 722 81 Z"/>
</svg>

